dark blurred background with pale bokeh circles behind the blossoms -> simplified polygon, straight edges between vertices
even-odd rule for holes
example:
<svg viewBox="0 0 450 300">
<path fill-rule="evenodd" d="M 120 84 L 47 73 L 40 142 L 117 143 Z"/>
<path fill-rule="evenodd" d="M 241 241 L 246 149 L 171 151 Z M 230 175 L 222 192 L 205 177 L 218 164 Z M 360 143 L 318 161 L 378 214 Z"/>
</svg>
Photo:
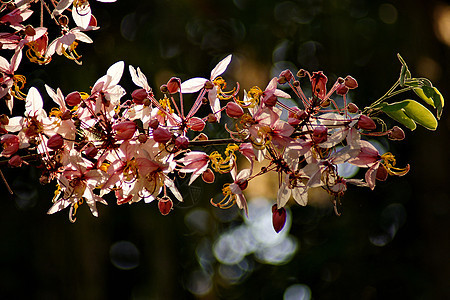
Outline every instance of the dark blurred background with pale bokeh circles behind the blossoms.
<svg viewBox="0 0 450 300">
<path fill-rule="evenodd" d="M 231 53 L 224 74 L 231 87 L 264 89 L 286 68 L 322 70 L 332 82 L 356 78 L 359 88 L 350 96 L 364 107 L 397 80 L 400 53 L 413 76 L 450 95 L 450 5 L 443 1 L 118 0 L 91 6 L 101 28 L 89 33 L 93 45 L 77 48 L 83 66 L 63 57 L 45 67 L 24 62 L 18 73 L 29 74 L 27 88 L 43 92 L 46 83 L 64 94 L 88 91 L 124 60 L 140 67 L 158 94 L 172 76 L 208 77 Z M 128 73 L 121 83 L 135 88 Z M 310 205 L 288 209 L 278 235 L 270 210 L 276 178 L 250 182 L 248 219 L 236 207 L 209 204 L 224 177 L 214 186 L 178 180 L 185 201 L 168 216 L 156 203 L 109 201 L 99 205 L 99 218 L 82 206 L 71 224 L 67 211 L 46 214 L 54 186 L 41 186 L 37 170 L 2 167 L 15 195 L 0 184 L 0 298 L 449 299 L 449 125 L 444 109 L 435 132 L 420 127 L 402 142 L 380 139 L 400 167 L 411 164 L 408 175 L 390 177 L 374 191 L 350 187 L 339 217 L 317 191 Z"/>
</svg>

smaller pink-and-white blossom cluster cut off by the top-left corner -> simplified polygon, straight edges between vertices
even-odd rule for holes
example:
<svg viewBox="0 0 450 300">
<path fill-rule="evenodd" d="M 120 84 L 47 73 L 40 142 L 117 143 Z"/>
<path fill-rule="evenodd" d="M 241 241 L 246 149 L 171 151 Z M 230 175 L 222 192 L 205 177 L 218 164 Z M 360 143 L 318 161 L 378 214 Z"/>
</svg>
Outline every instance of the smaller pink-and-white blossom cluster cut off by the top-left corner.
<svg viewBox="0 0 450 300">
<path fill-rule="evenodd" d="M 0 56 L 0 98 L 12 111 L 14 98 L 24 100 L 26 97 L 22 91 L 26 77 L 16 73 L 24 54 L 29 61 L 39 65 L 48 64 L 55 54 L 81 64 L 81 55 L 76 48 L 80 42 L 92 43 L 85 32 L 99 27 L 88 0 L 10 0 L 0 3 L 0 49 L 13 52 L 9 62 Z M 28 22 L 37 5 L 40 5 L 39 26 L 33 26 Z M 70 24 L 67 12 L 71 12 L 75 26 Z M 52 24 L 44 26 L 44 14 L 48 14 Z M 56 26 L 58 35 L 49 36 L 50 25 Z"/>
</svg>

